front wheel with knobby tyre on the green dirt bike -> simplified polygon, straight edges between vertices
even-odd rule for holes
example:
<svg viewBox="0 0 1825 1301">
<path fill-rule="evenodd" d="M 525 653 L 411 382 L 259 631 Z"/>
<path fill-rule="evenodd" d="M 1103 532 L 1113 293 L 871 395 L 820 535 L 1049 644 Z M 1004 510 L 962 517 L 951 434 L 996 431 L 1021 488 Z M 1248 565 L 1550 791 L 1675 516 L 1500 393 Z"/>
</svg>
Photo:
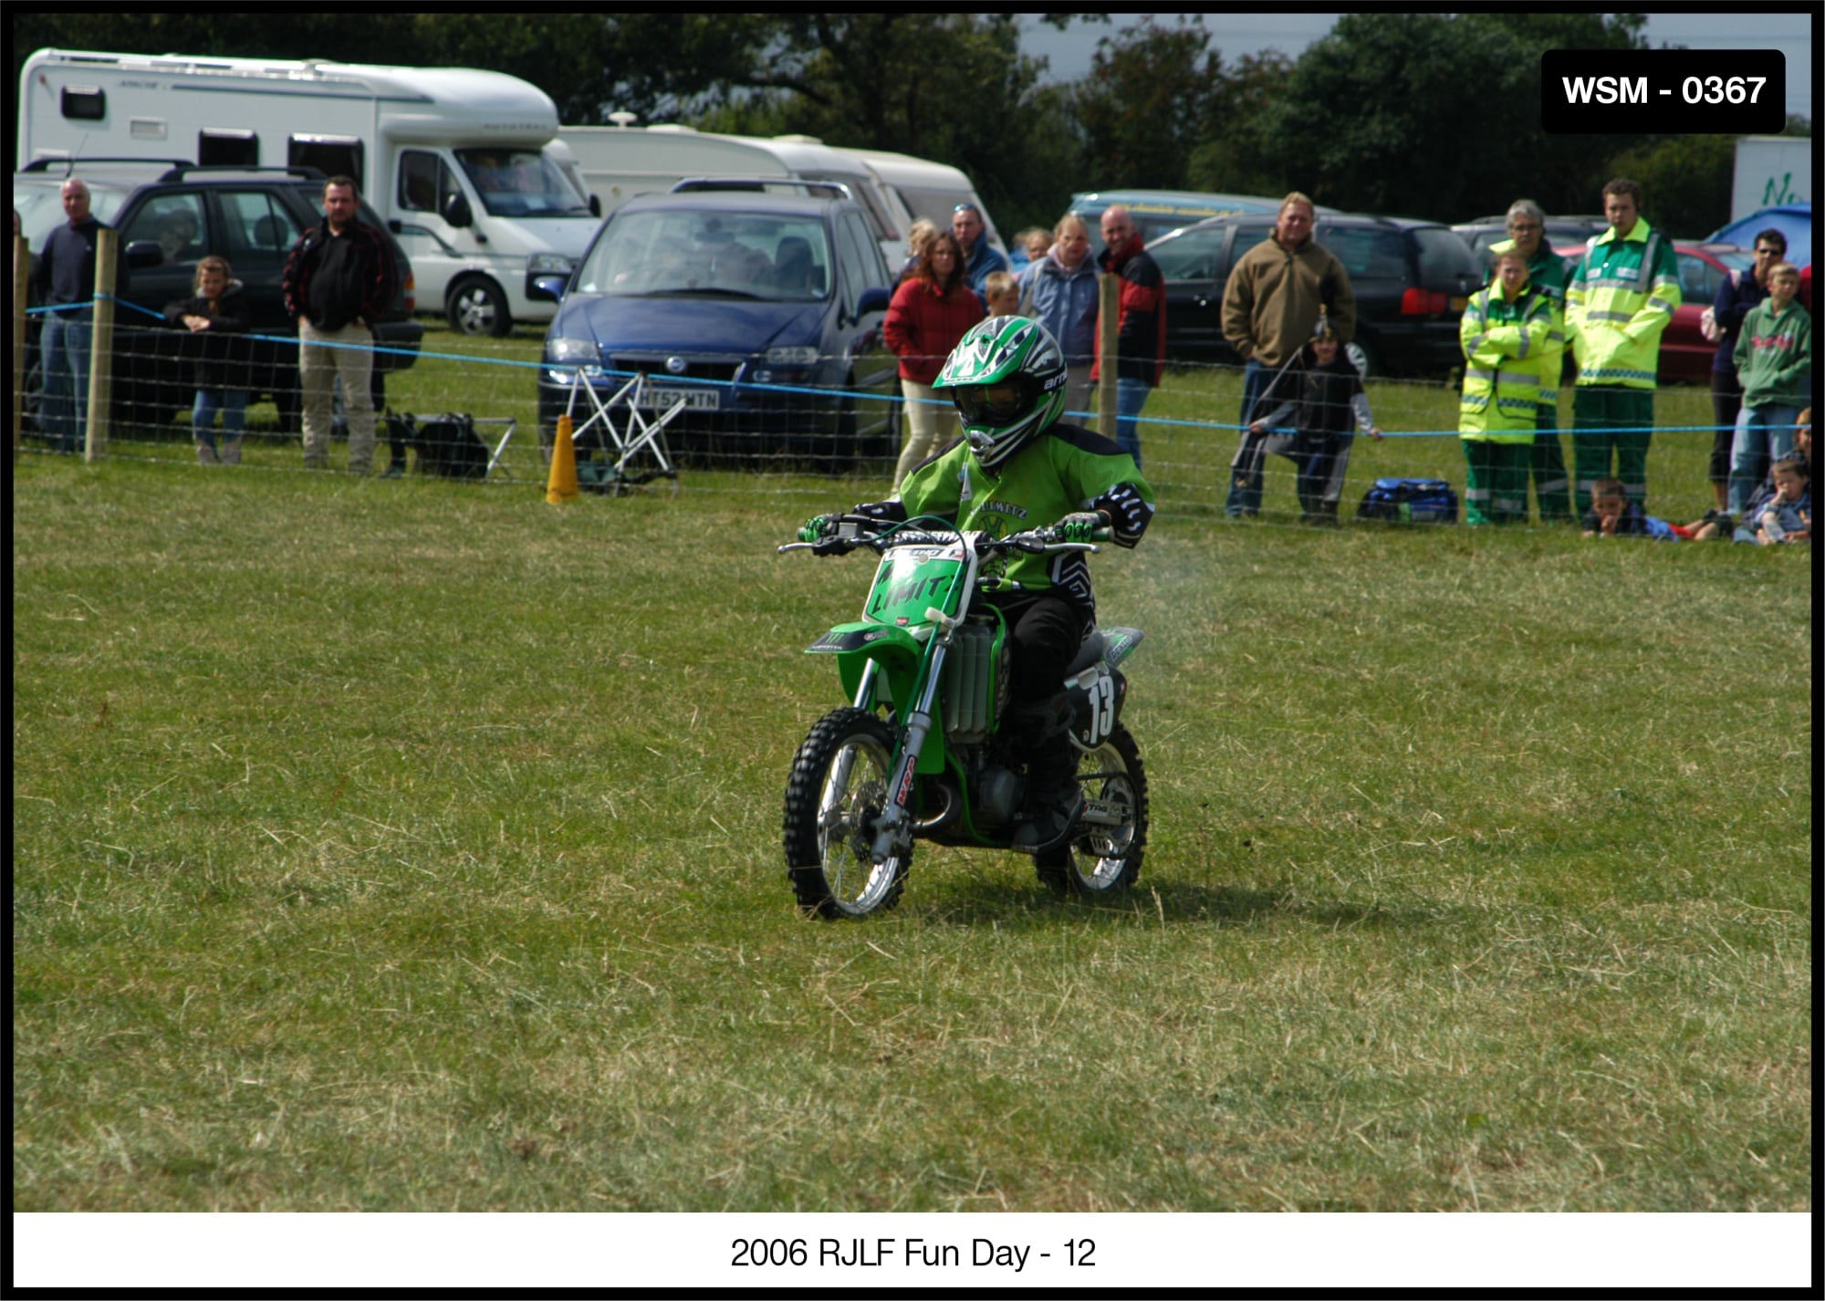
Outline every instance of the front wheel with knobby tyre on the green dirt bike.
<svg viewBox="0 0 1825 1301">
<path fill-rule="evenodd" d="M 867 710 L 841 708 L 812 726 L 787 779 L 787 874 L 799 907 L 865 918 L 900 901 L 912 850 L 874 863 L 869 843 L 887 805 L 894 732 Z"/>
</svg>

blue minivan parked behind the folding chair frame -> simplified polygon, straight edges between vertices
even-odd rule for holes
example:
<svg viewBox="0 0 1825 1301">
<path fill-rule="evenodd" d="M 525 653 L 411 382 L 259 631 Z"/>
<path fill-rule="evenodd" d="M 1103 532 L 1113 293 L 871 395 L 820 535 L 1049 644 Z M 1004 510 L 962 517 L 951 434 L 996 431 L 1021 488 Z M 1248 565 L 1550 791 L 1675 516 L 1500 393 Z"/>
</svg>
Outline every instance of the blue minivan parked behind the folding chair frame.
<svg viewBox="0 0 1825 1301">
<path fill-rule="evenodd" d="M 810 463 L 845 471 L 892 458 L 898 361 L 881 325 L 892 277 L 867 213 L 836 182 L 681 181 L 617 208 L 557 297 L 538 367 L 549 445 L 600 396 L 650 376 L 653 412 L 681 462 Z M 580 454 L 589 449 L 579 447 Z"/>
</svg>

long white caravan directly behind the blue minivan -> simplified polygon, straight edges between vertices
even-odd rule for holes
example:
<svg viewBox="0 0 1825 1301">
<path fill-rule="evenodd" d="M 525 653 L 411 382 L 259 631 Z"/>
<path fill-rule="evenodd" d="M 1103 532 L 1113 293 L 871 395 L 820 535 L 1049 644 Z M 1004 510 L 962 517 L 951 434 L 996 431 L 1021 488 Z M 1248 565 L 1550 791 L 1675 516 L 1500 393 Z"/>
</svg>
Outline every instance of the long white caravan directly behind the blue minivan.
<svg viewBox="0 0 1825 1301">
<path fill-rule="evenodd" d="M 577 177 L 602 212 L 637 193 L 664 193 L 686 177 L 779 177 L 836 181 L 869 213 L 889 266 L 905 259 L 912 215 L 867 166 L 812 135 L 719 135 L 675 122 L 653 126 L 562 126 L 558 141 L 577 155 Z"/>
</svg>

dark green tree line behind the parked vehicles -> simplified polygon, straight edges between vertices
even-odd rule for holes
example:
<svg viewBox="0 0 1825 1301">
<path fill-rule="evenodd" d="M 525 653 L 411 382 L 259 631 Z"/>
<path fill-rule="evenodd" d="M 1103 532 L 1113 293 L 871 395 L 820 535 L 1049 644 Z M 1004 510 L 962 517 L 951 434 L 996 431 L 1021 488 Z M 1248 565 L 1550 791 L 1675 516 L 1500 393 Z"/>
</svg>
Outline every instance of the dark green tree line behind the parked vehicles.
<svg viewBox="0 0 1825 1301">
<path fill-rule="evenodd" d="M 1011 15 L 199 9 L 9 22 L 15 86 L 44 46 L 491 68 L 542 88 L 566 124 L 631 111 L 951 162 L 1007 232 L 1049 226 L 1075 190 L 1303 190 L 1350 212 L 1467 221 L 1520 195 L 1597 212 L 1611 175 L 1641 181 L 1648 219 L 1677 235 L 1730 217 L 1736 137 L 1540 130 L 1540 53 L 1646 47 L 1644 15 L 1360 13 L 1298 58 L 1234 60 L 1192 18 L 1111 29 L 1075 82 L 1044 80 Z"/>
</svg>

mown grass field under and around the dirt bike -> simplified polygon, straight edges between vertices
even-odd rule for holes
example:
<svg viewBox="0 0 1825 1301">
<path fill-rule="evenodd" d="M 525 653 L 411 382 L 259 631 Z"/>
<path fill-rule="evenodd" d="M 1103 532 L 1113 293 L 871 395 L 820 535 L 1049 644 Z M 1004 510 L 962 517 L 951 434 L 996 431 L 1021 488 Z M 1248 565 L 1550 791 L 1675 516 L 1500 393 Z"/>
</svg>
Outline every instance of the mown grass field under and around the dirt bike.
<svg viewBox="0 0 1825 1301">
<path fill-rule="evenodd" d="M 1810 549 L 1225 524 L 1142 431 L 1137 892 L 863 925 L 779 808 L 867 562 L 774 546 L 878 485 L 27 458 L 15 1210 L 1810 1210 Z"/>
</svg>

